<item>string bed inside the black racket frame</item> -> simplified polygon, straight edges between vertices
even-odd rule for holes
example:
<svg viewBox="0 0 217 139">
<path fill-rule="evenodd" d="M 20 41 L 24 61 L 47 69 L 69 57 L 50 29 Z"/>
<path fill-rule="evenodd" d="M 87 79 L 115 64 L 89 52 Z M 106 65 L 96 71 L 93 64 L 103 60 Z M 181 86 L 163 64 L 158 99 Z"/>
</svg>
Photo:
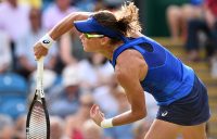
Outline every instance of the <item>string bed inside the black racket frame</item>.
<svg viewBox="0 0 217 139">
<path fill-rule="evenodd" d="M 29 122 L 29 139 L 47 139 L 46 112 L 40 102 L 36 102 Z"/>
</svg>

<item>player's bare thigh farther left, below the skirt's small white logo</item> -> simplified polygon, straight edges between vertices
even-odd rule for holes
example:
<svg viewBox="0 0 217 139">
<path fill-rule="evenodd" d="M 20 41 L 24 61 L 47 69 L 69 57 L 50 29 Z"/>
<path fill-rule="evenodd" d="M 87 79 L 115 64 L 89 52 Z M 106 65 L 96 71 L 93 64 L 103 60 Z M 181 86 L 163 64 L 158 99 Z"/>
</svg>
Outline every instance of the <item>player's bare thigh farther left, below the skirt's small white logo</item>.
<svg viewBox="0 0 217 139">
<path fill-rule="evenodd" d="M 176 139 L 181 126 L 161 119 L 155 119 L 144 139 Z M 197 139 L 197 138 L 196 138 Z"/>
</svg>

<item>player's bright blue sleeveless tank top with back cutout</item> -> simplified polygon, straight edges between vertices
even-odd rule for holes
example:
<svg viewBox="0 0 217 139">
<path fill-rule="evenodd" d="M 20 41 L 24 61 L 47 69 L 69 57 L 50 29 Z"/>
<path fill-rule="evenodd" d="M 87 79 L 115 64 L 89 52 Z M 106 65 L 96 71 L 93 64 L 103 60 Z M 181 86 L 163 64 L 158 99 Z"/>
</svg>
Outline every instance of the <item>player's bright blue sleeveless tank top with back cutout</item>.
<svg viewBox="0 0 217 139">
<path fill-rule="evenodd" d="M 145 36 L 129 39 L 114 51 L 111 62 L 114 68 L 116 59 L 127 49 L 135 49 L 143 55 L 148 64 L 148 74 L 140 84 L 144 91 L 155 98 L 158 105 L 168 105 L 190 93 L 194 81 L 193 70 Z"/>
</svg>

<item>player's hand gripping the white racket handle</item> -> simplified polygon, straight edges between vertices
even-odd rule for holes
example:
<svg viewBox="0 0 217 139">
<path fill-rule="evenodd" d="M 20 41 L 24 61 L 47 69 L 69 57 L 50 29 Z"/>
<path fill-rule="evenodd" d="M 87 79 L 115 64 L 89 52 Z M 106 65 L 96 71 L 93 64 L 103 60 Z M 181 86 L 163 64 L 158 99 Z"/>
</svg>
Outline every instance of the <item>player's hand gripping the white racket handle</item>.
<svg viewBox="0 0 217 139">
<path fill-rule="evenodd" d="M 48 49 L 44 48 L 41 42 L 37 42 L 35 46 L 34 46 L 34 53 L 35 53 L 35 56 L 36 56 L 36 60 L 39 60 L 41 56 L 46 56 L 48 54 Z"/>
</svg>

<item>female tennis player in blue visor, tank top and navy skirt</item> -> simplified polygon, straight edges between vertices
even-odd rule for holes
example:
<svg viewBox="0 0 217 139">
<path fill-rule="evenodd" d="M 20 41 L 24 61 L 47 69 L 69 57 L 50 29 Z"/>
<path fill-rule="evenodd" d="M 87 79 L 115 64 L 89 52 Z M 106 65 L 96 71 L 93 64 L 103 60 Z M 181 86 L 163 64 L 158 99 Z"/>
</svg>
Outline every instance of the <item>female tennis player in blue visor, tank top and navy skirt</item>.
<svg viewBox="0 0 217 139">
<path fill-rule="evenodd" d="M 81 33 L 85 51 L 102 53 L 111 61 L 131 104 L 130 111 L 108 119 L 93 105 L 90 116 L 95 124 L 108 128 L 145 117 L 145 90 L 159 110 L 144 139 L 175 139 L 179 132 L 184 139 L 206 139 L 205 123 L 210 114 L 205 86 L 191 67 L 140 33 L 133 3 L 115 13 L 72 13 L 35 45 L 36 59 L 46 55 L 52 42 L 73 27 Z"/>
</svg>

